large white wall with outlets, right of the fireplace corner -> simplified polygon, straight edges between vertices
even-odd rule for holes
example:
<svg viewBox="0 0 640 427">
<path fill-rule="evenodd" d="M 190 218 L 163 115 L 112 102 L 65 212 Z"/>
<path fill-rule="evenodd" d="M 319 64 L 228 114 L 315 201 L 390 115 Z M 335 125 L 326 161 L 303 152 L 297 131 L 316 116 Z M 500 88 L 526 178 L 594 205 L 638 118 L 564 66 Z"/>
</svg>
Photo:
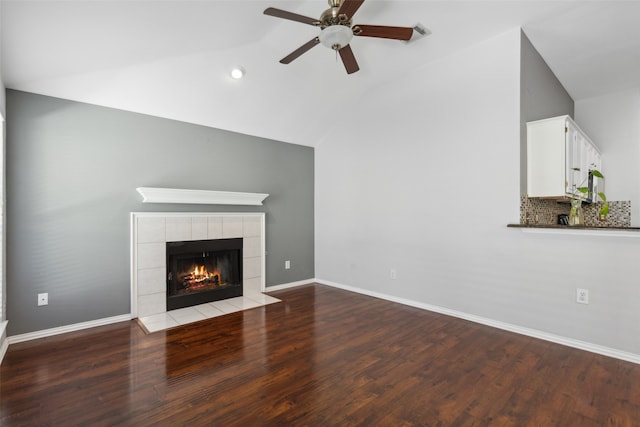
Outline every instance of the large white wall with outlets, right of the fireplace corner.
<svg viewBox="0 0 640 427">
<path fill-rule="evenodd" d="M 316 276 L 640 354 L 640 241 L 506 227 L 519 46 L 510 31 L 348 104 L 316 148 Z"/>
</svg>

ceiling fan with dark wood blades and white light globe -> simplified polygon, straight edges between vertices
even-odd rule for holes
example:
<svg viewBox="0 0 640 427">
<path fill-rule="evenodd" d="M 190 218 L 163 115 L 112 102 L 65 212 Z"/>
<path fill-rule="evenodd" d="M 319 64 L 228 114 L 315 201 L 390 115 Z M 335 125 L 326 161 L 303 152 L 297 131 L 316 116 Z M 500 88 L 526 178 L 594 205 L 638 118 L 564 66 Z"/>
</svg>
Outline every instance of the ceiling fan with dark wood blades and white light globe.
<svg viewBox="0 0 640 427">
<path fill-rule="evenodd" d="M 347 74 L 355 73 L 360 69 L 356 61 L 349 42 L 353 36 L 378 37 L 394 40 L 409 40 L 413 34 L 411 27 L 388 27 L 383 25 L 353 25 L 353 15 L 358 11 L 364 0 L 328 0 L 329 9 L 325 10 L 320 19 L 309 18 L 288 12 L 282 9 L 269 7 L 264 14 L 275 16 L 276 18 L 288 19 L 290 21 L 302 22 L 303 24 L 320 27 L 320 35 L 314 37 L 298 49 L 291 52 L 280 60 L 282 64 L 289 64 L 294 59 L 311 49 L 317 44 L 335 50 L 340 54 L 342 63 L 347 70 Z"/>
</svg>

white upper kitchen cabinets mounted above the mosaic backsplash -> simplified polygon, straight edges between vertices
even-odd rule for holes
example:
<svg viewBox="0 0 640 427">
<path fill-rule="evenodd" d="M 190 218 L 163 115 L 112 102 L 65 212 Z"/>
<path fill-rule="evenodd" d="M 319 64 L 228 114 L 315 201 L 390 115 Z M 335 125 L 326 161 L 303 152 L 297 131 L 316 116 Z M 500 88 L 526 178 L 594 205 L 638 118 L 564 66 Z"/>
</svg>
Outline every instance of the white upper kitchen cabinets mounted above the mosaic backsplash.
<svg viewBox="0 0 640 427">
<path fill-rule="evenodd" d="M 602 172 L 600 150 L 569 116 L 527 123 L 527 195 L 566 200 L 577 187 L 589 187 L 590 199 Z"/>
</svg>

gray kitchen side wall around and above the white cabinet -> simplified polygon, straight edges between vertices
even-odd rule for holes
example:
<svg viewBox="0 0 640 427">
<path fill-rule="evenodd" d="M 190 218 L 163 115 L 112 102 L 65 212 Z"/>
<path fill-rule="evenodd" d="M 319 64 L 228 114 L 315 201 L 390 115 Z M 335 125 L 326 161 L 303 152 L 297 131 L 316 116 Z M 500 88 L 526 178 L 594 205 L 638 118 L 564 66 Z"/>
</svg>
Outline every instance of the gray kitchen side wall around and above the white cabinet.
<svg viewBox="0 0 640 427">
<path fill-rule="evenodd" d="M 524 32 L 520 38 L 520 191 L 527 192 L 527 122 L 569 115 L 574 102 Z"/>
</svg>

